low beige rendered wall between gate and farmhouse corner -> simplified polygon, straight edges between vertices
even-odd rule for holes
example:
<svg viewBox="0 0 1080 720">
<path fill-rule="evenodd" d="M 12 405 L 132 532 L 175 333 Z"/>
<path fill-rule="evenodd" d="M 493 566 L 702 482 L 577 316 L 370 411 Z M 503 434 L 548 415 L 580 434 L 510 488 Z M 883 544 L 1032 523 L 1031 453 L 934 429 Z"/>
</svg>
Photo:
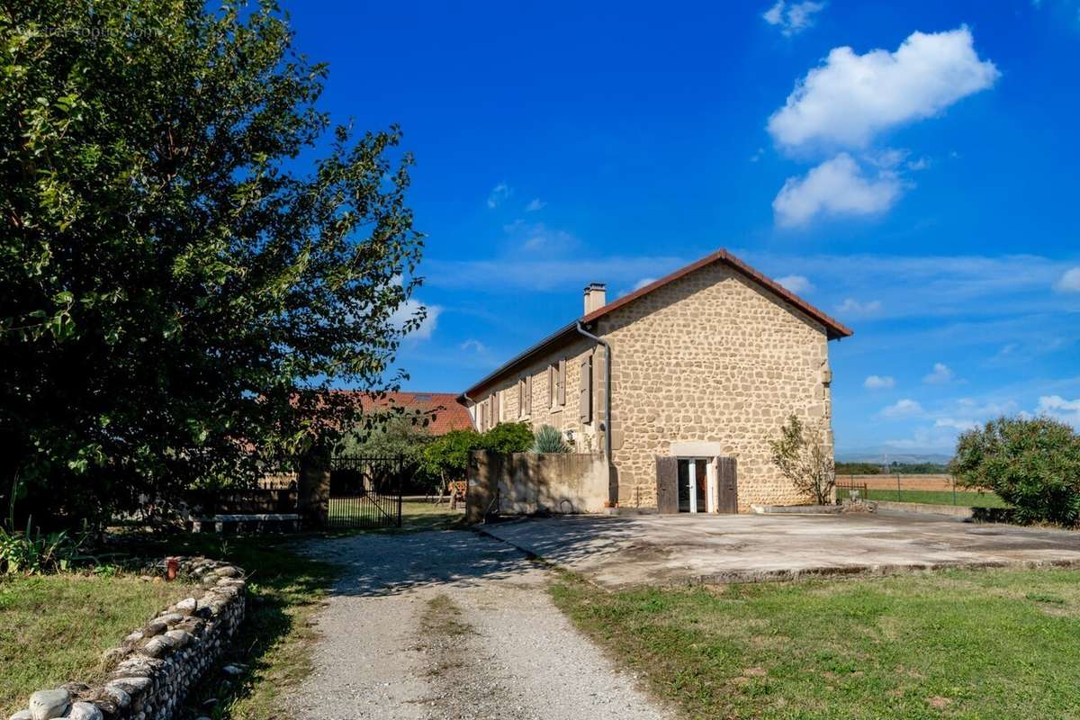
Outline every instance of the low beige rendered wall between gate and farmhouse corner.
<svg viewBox="0 0 1080 720">
<path fill-rule="evenodd" d="M 500 515 L 600 513 L 610 498 L 608 465 L 600 453 L 476 450 L 469 462 L 465 518 Z"/>
</svg>

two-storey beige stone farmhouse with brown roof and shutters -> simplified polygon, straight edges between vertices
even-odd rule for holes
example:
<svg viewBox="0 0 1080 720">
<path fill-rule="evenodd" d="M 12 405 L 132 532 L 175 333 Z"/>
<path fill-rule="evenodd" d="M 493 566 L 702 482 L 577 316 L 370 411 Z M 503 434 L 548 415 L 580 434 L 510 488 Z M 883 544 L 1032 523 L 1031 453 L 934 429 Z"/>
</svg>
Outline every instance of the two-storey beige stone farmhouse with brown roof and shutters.
<svg viewBox="0 0 1080 720">
<path fill-rule="evenodd" d="M 769 459 L 794 413 L 833 448 L 828 341 L 850 329 L 720 249 L 581 317 L 458 396 L 481 431 L 548 424 L 603 453 L 606 504 L 747 512 L 805 502 Z"/>
</svg>

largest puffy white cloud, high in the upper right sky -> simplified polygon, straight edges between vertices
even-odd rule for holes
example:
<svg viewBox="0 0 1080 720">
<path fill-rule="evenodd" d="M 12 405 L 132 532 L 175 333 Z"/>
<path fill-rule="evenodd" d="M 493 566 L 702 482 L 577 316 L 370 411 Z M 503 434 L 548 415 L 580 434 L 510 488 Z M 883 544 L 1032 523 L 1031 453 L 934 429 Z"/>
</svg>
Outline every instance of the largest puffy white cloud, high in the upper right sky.
<svg viewBox="0 0 1080 720">
<path fill-rule="evenodd" d="M 990 87 L 1000 72 L 975 53 L 971 31 L 913 32 L 895 52 L 834 47 L 769 118 L 782 146 L 866 147 L 891 127 L 941 113 Z"/>
</svg>

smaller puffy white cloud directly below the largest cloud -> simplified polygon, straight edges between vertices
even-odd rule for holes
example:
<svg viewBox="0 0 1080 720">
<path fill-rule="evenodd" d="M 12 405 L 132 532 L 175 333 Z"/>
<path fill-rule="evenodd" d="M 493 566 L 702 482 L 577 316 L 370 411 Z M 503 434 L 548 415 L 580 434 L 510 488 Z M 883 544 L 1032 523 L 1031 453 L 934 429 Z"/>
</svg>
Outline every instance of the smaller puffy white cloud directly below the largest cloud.
<svg viewBox="0 0 1080 720">
<path fill-rule="evenodd" d="M 895 173 L 866 176 L 854 159 L 841 152 L 811 169 L 789 177 L 772 201 L 777 225 L 794 228 L 818 216 L 867 216 L 885 213 L 900 198 L 904 184 Z"/>
</svg>

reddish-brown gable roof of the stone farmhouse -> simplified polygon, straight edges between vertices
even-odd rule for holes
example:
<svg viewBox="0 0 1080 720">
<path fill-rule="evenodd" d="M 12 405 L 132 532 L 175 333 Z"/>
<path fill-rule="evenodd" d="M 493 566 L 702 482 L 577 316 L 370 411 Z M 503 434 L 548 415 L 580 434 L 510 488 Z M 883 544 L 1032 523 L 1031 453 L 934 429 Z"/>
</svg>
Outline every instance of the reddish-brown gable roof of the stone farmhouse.
<svg viewBox="0 0 1080 720">
<path fill-rule="evenodd" d="M 726 249 L 720 248 L 715 253 L 706 255 L 705 257 L 701 258 L 696 262 L 691 262 L 690 264 L 684 268 L 679 268 L 670 275 L 664 275 L 660 280 L 649 283 L 645 287 L 634 290 L 629 295 L 624 295 L 617 300 L 612 300 L 606 305 L 597 308 L 593 312 L 586 313 L 585 315 L 582 315 L 578 320 L 575 320 L 573 322 L 564 325 L 563 327 L 561 327 L 559 329 L 555 330 L 553 334 L 549 335 L 546 338 L 541 340 L 540 342 L 536 343 L 535 345 L 527 349 L 523 353 L 519 353 L 518 355 L 515 355 L 514 357 L 509 359 L 494 372 L 484 377 L 482 380 L 480 380 L 480 382 L 477 382 L 472 388 L 470 388 L 461 395 L 459 395 L 458 402 L 459 403 L 464 402 L 465 399 L 468 399 L 467 398 L 468 395 L 472 395 L 484 390 L 484 388 L 499 380 L 508 372 L 511 372 L 522 367 L 523 365 L 528 364 L 528 362 L 535 355 L 538 355 L 544 352 L 545 350 L 565 344 L 573 338 L 581 337 L 577 331 L 578 323 L 581 323 L 582 325 L 589 325 L 599 320 L 600 317 L 604 317 L 605 315 L 618 310 L 619 308 L 622 308 L 623 305 L 629 304 L 634 300 L 637 300 L 642 296 L 648 295 L 649 293 L 652 293 L 653 290 L 657 290 L 663 287 L 664 285 L 667 285 L 669 283 L 675 282 L 676 280 L 683 277 L 684 275 L 690 274 L 694 270 L 700 270 L 705 266 L 712 264 L 714 262 L 720 262 L 731 268 L 732 270 L 737 271 L 747 280 L 753 281 L 754 283 L 757 283 L 758 285 L 766 288 L 770 293 L 780 296 L 782 300 L 789 302 L 791 304 L 795 305 L 798 310 L 802 311 L 813 320 L 824 325 L 825 336 L 829 340 L 836 340 L 838 338 L 847 338 L 853 334 L 851 328 L 849 328 L 847 325 L 843 325 L 839 321 L 831 317 L 829 315 L 826 315 L 824 312 L 813 307 L 799 296 L 795 295 L 780 283 L 769 277 L 766 277 L 757 270 L 754 270 L 754 268 L 750 267 L 748 264 L 737 258 L 731 253 L 728 253 Z"/>
</svg>

